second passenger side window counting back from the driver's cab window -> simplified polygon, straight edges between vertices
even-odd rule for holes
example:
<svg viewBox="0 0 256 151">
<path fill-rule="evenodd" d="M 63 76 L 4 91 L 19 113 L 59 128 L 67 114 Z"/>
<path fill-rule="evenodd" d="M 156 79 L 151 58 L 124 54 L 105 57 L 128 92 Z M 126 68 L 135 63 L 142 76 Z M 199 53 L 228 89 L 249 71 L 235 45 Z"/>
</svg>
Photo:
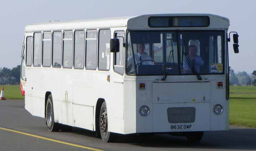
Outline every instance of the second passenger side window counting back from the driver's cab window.
<svg viewBox="0 0 256 151">
<path fill-rule="evenodd" d="M 86 32 L 86 69 L 95 70 L 97 65 L 97 31 Z"/>
</svg>

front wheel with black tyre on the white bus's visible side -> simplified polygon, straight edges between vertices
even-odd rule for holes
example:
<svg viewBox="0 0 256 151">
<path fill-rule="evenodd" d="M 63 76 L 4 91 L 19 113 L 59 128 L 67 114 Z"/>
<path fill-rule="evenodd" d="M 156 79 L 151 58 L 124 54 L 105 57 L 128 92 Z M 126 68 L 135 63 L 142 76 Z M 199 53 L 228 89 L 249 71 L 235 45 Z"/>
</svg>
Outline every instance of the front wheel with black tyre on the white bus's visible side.
<svg viewBox="0 0 256 151">
<path fill-rule="evenodd" d="M 99 130 L 101 132 L 101 138 L 104 142 L 113 142 L 116 140 L 116 135 L 108 132 L 108 116 L 106 102 L 101 105 L 101 111 L 99 113 Z"/>
</svg>

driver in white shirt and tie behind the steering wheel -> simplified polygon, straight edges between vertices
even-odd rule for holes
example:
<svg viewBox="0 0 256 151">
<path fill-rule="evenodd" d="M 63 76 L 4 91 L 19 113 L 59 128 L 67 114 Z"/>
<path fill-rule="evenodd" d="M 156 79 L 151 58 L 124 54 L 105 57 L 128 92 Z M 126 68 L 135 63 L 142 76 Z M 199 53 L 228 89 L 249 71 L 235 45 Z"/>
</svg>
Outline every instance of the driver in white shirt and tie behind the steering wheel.
<svg viewBox="0 0 256 151">
<path fill-rule="evenodd" d="M 138 43 L 137 44 L 138 53 L 134 55 L 135 64 L 143 60 L 152 60 L 152 58 L 145 51 L 145 44 Z M 152 61 L 143 61 L 139 65 L 153 65 Z"/>
</svg>

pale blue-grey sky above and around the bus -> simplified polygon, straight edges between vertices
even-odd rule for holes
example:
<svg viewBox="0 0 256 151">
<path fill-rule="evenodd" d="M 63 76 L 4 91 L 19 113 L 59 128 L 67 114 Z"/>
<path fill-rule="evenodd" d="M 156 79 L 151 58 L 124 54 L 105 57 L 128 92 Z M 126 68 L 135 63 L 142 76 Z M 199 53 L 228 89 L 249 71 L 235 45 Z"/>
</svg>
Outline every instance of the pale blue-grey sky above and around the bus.
<svg viewBox="0 0 256 151">
<path fill-rule="evenodd" d="M 231 68 L 249 74 L 256 70 L 254 0 L 4 0 L 0 6 L 0 67 L 20 65 L 27 24 L 156 13 L 211 13 L 229 18 L 229 32 L 239 33 L 239 54 L 234 54 L 233 43 L 229 43 Z"/>
</svg>

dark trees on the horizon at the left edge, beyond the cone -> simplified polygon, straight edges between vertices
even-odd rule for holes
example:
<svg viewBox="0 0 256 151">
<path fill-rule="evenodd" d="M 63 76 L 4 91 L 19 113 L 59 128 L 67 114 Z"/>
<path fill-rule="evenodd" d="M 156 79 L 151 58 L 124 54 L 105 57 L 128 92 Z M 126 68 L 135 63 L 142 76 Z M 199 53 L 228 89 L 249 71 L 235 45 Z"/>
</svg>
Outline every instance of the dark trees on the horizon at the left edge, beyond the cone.
<svg viewBox="0 0 256 151">
<path fill-rule="evenodd" d="M 0 85 L 20 84 L 20 65 L 12 69 L 0 68 Z"/>
</svg>

